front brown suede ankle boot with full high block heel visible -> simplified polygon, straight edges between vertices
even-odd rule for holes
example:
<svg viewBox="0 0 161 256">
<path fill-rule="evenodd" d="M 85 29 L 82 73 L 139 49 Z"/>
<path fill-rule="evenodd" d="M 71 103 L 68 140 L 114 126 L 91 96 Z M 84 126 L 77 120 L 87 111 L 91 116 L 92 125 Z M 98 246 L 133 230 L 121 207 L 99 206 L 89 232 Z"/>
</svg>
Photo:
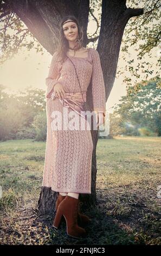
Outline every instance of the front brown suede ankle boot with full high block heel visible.
<svg viewBox="0 0 161 256">
<path fill-rule="evenodd" d="M 67 195 L 59 204 L 53 223 L 53 227 L 58 228 L 61 218 L 64 216 L 67 225 L 67 235 L 75 238 L 86 236 L 86 230 L 78 225 L 78 203 L 79 199 Z"/>
</svg>

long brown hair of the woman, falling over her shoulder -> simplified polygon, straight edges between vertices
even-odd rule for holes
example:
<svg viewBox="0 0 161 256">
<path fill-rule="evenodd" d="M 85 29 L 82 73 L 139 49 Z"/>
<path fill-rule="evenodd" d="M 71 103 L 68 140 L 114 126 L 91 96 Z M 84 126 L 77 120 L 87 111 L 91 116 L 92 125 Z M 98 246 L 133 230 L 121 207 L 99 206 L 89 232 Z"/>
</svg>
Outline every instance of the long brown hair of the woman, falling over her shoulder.
<svg viewBox="0 0 161 256">
<path fill-rule="evenodd" d="M 73 15 L 67 15 L 67 16 L 64 16 L 61 21 L 60 21 L 60 35 L 59 35 L 59 43 L 57 45 L 57 53 L 59 54 L 60 56 L 60 59 L 61 59 L 61 63 L 63 63 L 67 56 L 66 56 L 66 52 L 68 51 L 69 49 L 69 43 L 68 43 L 68 40 L 65 38 L 65 34 L 63 32 L 63 23 L 67 20 L 72 20 L 76 23 L 77 27 L 78 27 L 78 38 L 75 40 L 75 47 L 74 47 L 74 50 L 78 50 L 79 48 L 82 47 L 82 41 L 83 41 L 83 29 L 82 27 L 80 26 L 79 24 L 79 21 L 78 19 L 76 19 L 75 16 Z"/>
</svg>

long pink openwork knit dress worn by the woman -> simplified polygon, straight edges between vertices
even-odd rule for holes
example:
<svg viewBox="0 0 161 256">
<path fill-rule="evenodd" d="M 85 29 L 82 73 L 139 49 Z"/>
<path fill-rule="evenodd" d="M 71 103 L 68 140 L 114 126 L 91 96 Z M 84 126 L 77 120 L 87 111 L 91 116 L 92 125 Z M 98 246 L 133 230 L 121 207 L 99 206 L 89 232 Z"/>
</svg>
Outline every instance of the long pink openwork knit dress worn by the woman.
<svg viewBox="0 0 161 256">
<path fill-rule="evenodd" d="M 105 84 L 98 51 L 88 48 L 88 57 L 69 56 L 69 58 L 75 65 L 81 90 L 85 96 L 85 98 L 83 96 L 84 101 L 86 101 L 87 88 L 92 80 L 91 96 L 94 111 L 105 112 Z M 65 100 L 61 101 L 58 97 L 53 97 L 53 88 L 56 83 L 63 85 L 68 94 L 67 101 L 72 99 L 71 95 L 77 94 L 79 95 L 78 101 L 75 100 L 74 105 L 70 105 L 68 104 L 70 100 L 66 103 Z M 86 124 L 88 122 L 78 114 L 80 108 L 76 106 L 76 102 L 79 102 L 81 90 L 74 66 L 69 59 L 61 64 L 57 52 L 53 54 L 46 85 L 47 141 L 42 186 L 51 187 L 51 190 L 57 192 L 91 193 L 93 152 L 91 130 L 80 129 L 82 119 Z M 63 121 L 65 112 L 63 111 L 70 115 L 74 109 L 72 106 L 75 106 L 74 113 L 79 118 L 79 129 L 72 130 L 71 125 L 69 125 L 70 129 L 68 127 L 63 129 L 63 123 L 65 123 Z M 62 129 L 60 130 L 53 129 L 55 113 L 62 114 Z"/>
</svg>

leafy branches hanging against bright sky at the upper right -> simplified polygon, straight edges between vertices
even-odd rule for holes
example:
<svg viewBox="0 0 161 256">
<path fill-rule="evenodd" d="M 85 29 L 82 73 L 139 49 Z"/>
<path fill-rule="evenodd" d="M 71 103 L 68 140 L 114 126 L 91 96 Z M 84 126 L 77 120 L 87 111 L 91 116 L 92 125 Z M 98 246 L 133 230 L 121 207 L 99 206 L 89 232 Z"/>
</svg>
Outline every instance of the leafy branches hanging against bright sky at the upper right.
<svg viewBox="0 0 161 256">
<path fill-rule="evenodd" d="M 117 74 L 129 71 L 130 76 L 125 76 L 124 82 L 127 86 L 132 86 L 132 77 L 140 78 L 140 75 L 145 75 L 147 79 L 150 75 L 156 76 L 160 73 L 161 64 L 161 48 L 160 48 L 160 1 L 154 0 L 128 0 L 126 2 L 127 8 L 144 8 L 144 14 L 140 16 L 131 17 L 128 21 L 124 38 L 122 40 L 121 51 L 124 54 L 124 60 L 127 65 Z M 130 48 L 136 51 L 136 58 L 130 57 L 128 52 Z M 154 50 L 156 50 L 156 63 L 147 61 L 148 58 L 154 57 Z"/>
</svg>

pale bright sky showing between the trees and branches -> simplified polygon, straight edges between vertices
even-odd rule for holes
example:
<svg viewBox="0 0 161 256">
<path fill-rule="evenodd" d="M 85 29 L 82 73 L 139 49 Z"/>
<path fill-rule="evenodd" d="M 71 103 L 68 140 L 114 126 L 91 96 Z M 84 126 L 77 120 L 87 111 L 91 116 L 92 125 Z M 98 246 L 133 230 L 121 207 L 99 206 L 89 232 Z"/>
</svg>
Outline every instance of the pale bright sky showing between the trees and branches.
<svg viewBox="0 0 161 256">
<path fill-rule="evenodd" d="M 98 14 L 95 13 L 95 16 L 97 15 Z M 87 32 L 89 34 L 95 32 L 94 21 L 89 20 Z M 89 47 L 91 46 L 89 45 Z M 146 60 L 157 63 L 157 51 L 157 48 L 153 49 L 152 59 L 148 59 L 147 57 Z M 133 47 L 129 48 L 128 56 L 130 56 L 130 59 L 136 59 L 137 52 L 134 51 Z M 37 53 L 35 49 L 27 51 L 23 48 L 15 57 L 7 60 L 3 65 L 0 65 L 0 84 L 6 86 L 8 88 L 7 92 L 9 93 L 15 93 L 20 89 L 24 90 L 28 86 L 46 90 L 45 79 L 48 76 L 51 58 L 51 54 L 45 49 L 42 55 L 41 52 Z M 125 60 L 123 60 L 123 52 L 120 51 L 118 69 L 119 67 L 124 68 L 126 64 Z M 123 82 L 124 75 L 125 74 L 115 78 L 111 94 L 106 102 L 106 109 L 108 109 L 109 112 L 112 112 L 112 107 L 119 103 L 121 96 L 126 95 L 126 84 Z M 130 74 L 126 73 L 126 75 Z M 143 76 L 140 77 L 139 81 L 141 81 L 142 78 Z"/>
</svg>

